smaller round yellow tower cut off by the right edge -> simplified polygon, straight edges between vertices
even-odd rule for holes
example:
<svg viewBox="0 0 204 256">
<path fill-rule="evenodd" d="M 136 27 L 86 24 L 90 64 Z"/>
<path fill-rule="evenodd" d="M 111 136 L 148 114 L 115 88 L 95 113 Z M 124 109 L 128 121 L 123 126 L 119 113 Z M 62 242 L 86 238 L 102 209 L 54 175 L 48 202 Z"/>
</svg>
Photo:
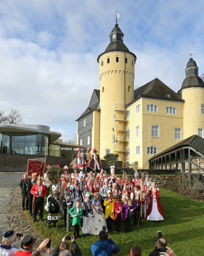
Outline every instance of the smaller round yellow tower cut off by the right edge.
<svg viewBox="0 0 204 256">
<path fill-rule="evenodd" d="M 197 134 L 203 137 L 204 129 L 204 83 L 199 77 L 199 67 L 190 58 L 186 65 L 186 78 L 178 92 L 184 102 L 183 139 Z"/>
</svg>

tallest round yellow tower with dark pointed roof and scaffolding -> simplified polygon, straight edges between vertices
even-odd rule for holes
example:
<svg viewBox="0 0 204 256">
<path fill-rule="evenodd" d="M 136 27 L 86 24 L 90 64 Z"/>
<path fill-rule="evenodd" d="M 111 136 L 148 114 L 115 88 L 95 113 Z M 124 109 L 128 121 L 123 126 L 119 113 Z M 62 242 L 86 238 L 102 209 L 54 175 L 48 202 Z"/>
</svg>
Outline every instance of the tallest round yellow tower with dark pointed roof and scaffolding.
<svg viewBox="0 0 204 256">
<path fill-rule="evenodd" d="M 135 61 L 137 58 L 125 46 L 123 37 L 124 33 L 116 23 L 109 34 L 109 45 L 97 59 L 100 78 L 101 157 L 108 153 L 108 150 L 109 153 L 118 153 L 119 155 L 124 155 L 125 151 L 125 142 L 122 143 L 122 140 L 125 140 L 125 122 L 117 120 L 122 119 L 122 117 L 126 118 L 126 104 L 134 99 Z M 117 132 L 120 133 L 117 135 L 120 152 L 116 152 L 116 146 L 114 145 L 117 125 Z M 122 131 L 124 134 L 122 134 Z"/>
</svg>

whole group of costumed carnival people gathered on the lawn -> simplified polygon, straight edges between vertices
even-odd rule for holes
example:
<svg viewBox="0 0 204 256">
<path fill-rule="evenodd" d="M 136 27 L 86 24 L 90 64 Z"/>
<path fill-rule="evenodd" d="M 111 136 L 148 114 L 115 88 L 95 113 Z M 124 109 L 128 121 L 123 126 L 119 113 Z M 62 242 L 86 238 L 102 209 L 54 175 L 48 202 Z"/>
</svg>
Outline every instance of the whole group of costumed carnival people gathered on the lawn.
<svg viewBox="0 0 204 256">
<path fill-rule="evenodd" d="M 89 154 L 90 148 L 86 148 Z M 95 153 L 97 150 L 95 149 Z M 90 154 L 89 154 L 90 155 Z M 96 155 L 96 154 L 95 154 Z M 47 195 L 45 206 L 48 213 L 48 228 L 56 223 L 60 218 L 59 212 L 64 214 L 64 223 L 67 225 L 67 210 L 73 218 L 73 236 L 80 237 L 80 225 L 82 223 L 83 236 L 98 235 L 99 231 L 112 231 L 112 223 L 115 224 L 115 232 L 120 232 L 122 221 L 124 221 L 124 231 L 131 231 L 131 219 L 134 225 L 139 225 L 143 217 L 148 221 L 163 221 L 164 214 L 159 201 L 159 189 L 156 182 L 152 182 L 146 177 L 139 178 L 139 173 L 135 172 L 133 178 L 129 178 L 123 172 L 122 178 L 116 176 L 115 167 L 110 166 L 110 175 L 101 169 L 99 155 L 93 157 L 97 161 L 96 169 L 91 168 L 91 159 L 86 155 L 84 165 L 79 165 L 85 157 L 80 150 L 77 154 L 77 163 L 72 170 L 65 165 L 64 173 L 61 175 L 58 184 L 52 184 L 48 178 L 50 165 L 46 167 L 44 177 L 32 174 L 28 179 L 24 174 L 20 182 L 22 187 L 22 209 L 24 210 L 24 199 L 26 191 L 29 198 L 27 210 L 36 221 L 38 210 L 39 221 L 44 216 L 44 197 Z M 86 165 L 89 166 L 86 166 Z M 59 167 L 59 165 L 56 165 Z M 145 179 L 144 179 L 145 178 Z M 42 184 L 43 183 L 43 184 Z M 50 186 L 52 193 L 49 194 Z M 27 189 L 25 189 L 27 187 Z M 67 209 L 68 208 L 68 209 Z"/>
</svg>

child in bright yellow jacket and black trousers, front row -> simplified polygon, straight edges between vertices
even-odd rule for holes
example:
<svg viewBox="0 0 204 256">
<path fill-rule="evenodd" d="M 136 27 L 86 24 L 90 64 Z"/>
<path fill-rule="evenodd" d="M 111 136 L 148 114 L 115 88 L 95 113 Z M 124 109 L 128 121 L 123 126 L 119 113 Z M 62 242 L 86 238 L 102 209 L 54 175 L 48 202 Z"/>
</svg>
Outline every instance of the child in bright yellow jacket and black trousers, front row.
<svg viewBox="0 0 204 256">
<path fill-rule="evenodd" d="M 105 220 L 107 222 L 107 230 L 112 231 L 112 222 L 114 220 L 114 201 L 112 199 L 112 192 L 107 191 L 107 197 L 104 200 L 105 206 Z"/>
</svg>

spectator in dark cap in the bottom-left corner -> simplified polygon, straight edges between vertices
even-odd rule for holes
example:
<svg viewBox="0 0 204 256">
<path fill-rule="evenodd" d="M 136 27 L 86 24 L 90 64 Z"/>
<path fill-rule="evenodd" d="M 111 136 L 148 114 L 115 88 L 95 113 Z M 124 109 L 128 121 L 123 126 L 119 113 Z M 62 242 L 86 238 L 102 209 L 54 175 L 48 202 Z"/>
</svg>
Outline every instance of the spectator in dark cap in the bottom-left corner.
<svg viewBox="0 0 204 256">
<path fill-rule="evenodd" d="M 14 234 L 13 230 L 5 232 L 2 238 L 2 244 L 0 244 L 0 255 L 3 256 L 14 256 L 15 251 L 19 249 L 14 248 L 17 233 Z"/>
</svg>

